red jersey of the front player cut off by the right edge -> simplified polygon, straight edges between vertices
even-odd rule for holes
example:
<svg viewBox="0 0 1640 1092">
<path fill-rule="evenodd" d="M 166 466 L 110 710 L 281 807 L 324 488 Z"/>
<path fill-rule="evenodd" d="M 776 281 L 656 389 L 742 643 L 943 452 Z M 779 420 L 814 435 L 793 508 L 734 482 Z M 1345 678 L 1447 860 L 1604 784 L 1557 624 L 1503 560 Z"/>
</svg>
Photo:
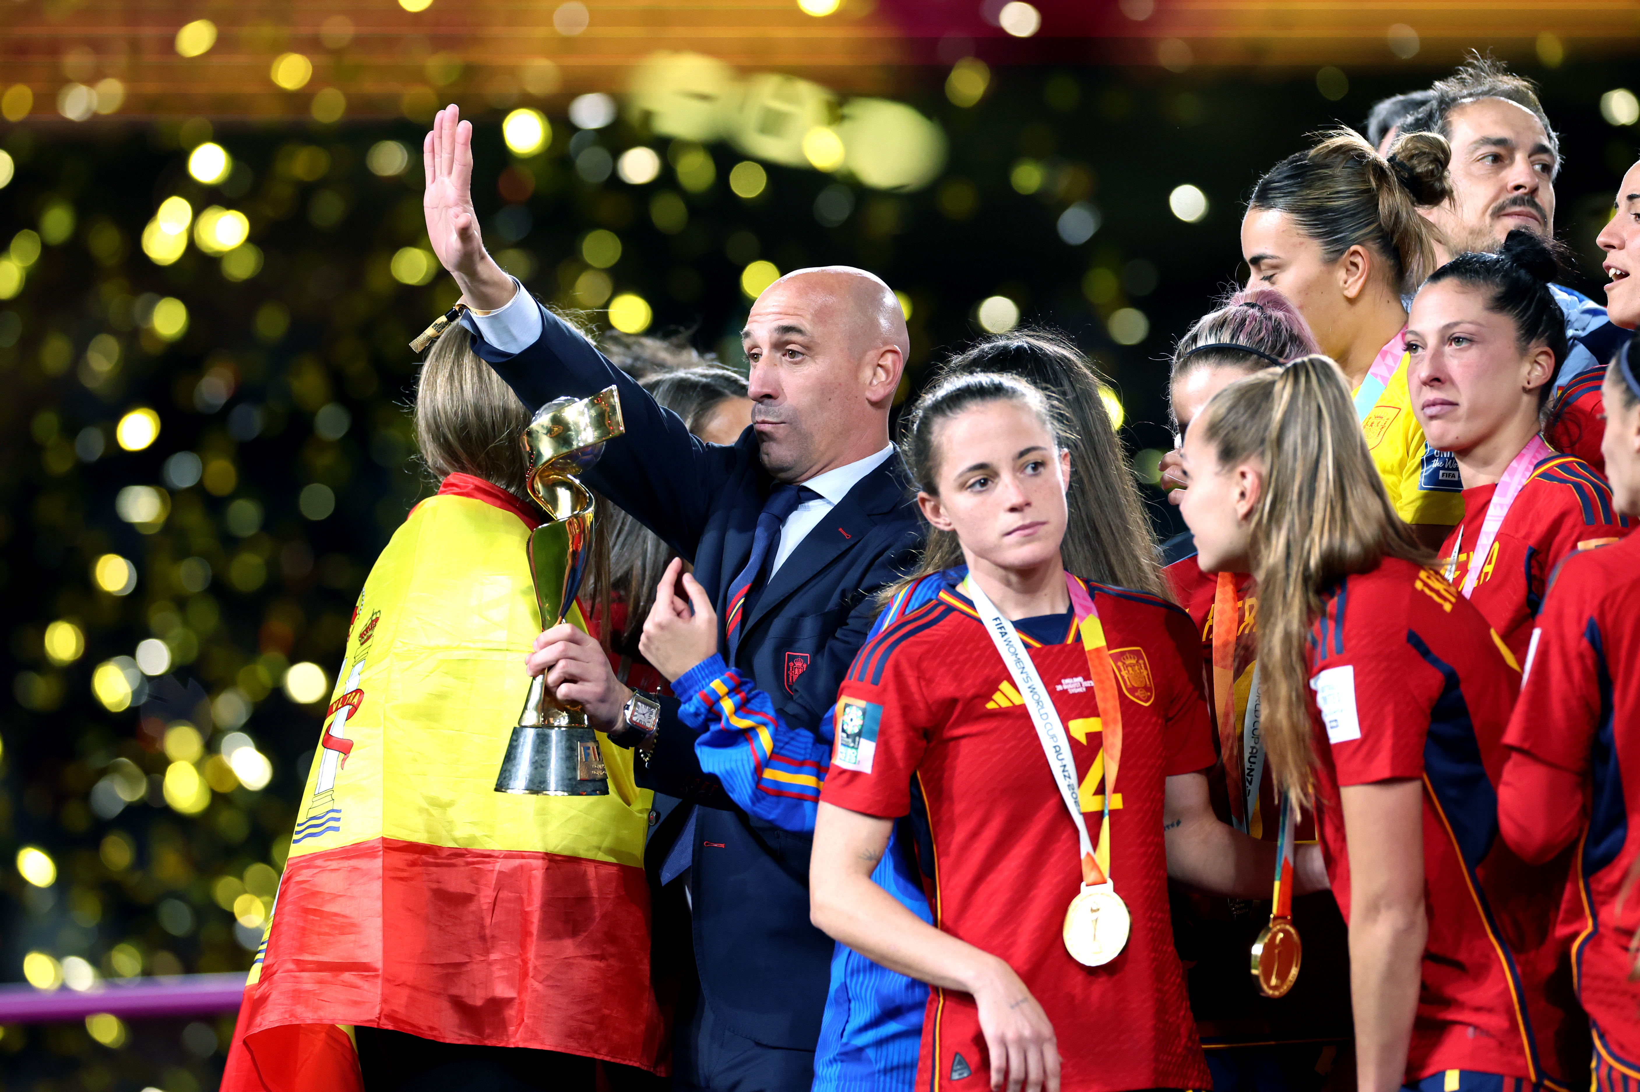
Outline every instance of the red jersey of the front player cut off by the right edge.
<svg viewBox="0 0 1640 1092">
<path fill-rule="evenodd" d="M 1576 889 L 1563 930 L 1578 999 L 1596 1049 L 1640 1072 L 1635 958 L 1640 889 L 1624 882 L 1640 859 L 1640 539 L 1566 559 L 1543 603 L 1520 702 L 1504 743 L 1589 785 Z M 1499 808 L 1540 805 L 1504 797 Z"/>
</svg>

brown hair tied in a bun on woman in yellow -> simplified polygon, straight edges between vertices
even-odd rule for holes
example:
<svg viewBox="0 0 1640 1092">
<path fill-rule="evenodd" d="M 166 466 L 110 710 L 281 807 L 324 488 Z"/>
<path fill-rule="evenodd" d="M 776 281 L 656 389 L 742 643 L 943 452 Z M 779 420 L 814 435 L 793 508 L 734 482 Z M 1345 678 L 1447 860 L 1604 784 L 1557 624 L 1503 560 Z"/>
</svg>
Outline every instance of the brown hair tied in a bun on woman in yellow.
<svg viewBox="0 0 1640 1092">
<path fill-rule="evenodd" d="M 1379 156 L 1360 133 L 1338 128 L 1271 167 L 1248 208 L 1291 216 L 1327 262 L 1351 246 L 1369 248 L 1389 262 L 1391 284 L 1404 295 L 1435 272 L 1440 233 L 1419 208 L 1451 200 L 1450 162 L 1451 146 L 1437 133 L 1399 136 Z"/>
</svg>

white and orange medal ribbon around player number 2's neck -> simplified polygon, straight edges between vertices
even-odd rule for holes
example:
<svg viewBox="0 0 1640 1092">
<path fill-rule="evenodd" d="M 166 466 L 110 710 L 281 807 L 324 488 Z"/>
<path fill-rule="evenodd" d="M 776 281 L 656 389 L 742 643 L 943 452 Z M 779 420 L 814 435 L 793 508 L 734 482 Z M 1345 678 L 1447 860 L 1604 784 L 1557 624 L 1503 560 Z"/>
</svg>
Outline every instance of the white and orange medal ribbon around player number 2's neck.
<svg viewBox="0 0 1640 1092">
<path fill-rule="evenodd" d="M 1117 676 L 1105 648 L 1105 631 L 1092 597 L 1069 572 L 1064 574 L 1064 584 L 1071 592 L 1071 607 L 1076 612 L 1082 649 L 1087 653 L 1087 666 L 1094 677 L 1094 697 L 1099 700 L 1100 735 L 1104 736 L 1100 756 L 1105 762 L 1105 808 L 1097 848 L 1089 838 L 1087 821 L 1082 818 L 1081 782 L 1076 776 L 1076 759 L 1071 756 L 1071 738 L 1064 730 L 1064 721 L 1059 720 L 1059 712 L 1053 707 L 1053 698 L 1048 697 L 1048 687 L 1043 685 L 1025 643 L 1014 631 L 1014 623 L 1002 617 L 1002 612 L 973 577 L 964 579 L 958 590 L 973 600 L 986 633 L 991 635 L 992 644 L 1002 656 L 1002 664 L 1014 677 L 1020 697 L 1025 698 L 1025 712 L 1030 713 L 1036 739 L 1041 743 L 1043 754 L 1048 756 L 1048 767 L 1059 785 L 1059 799 L 1069 810 L 1071 821 L 1076 823 L 1082 889 L 1086 890 L 1110 882 L 1110 799 L 1115 795 L 1117 767 L 1122 764 L 1122 708 L 1117 703 Z"/>
</svg>

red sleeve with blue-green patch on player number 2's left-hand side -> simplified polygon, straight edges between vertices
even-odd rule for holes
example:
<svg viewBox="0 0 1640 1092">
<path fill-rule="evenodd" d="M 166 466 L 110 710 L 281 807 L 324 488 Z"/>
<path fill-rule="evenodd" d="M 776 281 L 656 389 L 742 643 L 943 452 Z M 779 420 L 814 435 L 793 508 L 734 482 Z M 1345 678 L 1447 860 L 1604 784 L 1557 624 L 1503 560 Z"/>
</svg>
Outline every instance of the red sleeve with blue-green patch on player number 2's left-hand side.
<svg viewBox="0 0 1640 1092">
<path fill-rule="evenodd" d="M 838 689 L 831 769 L 820 800 L 850 812 L 899 818 L 910 812 L 912 776 L 936 723 L 923 697 L 917 639 L 884 630 L 854 657 Z"/>
</svg>

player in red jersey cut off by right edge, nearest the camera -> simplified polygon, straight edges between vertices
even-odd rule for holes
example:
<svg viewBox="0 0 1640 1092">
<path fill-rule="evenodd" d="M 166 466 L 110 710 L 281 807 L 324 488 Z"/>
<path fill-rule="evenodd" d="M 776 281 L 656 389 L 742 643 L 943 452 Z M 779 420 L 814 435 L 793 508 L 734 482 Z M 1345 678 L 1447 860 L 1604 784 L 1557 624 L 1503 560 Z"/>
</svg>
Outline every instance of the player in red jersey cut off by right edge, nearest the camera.
<svg viewBox="0 0 1640 1092">
<path fill-rule="evenodd" d="M 1606 374 L 1606 472 L 1617 510 L 1640 518 L 1640 349 Z M 1527 861 L 1576 843 L 1560 935 L 1574 938 L 1578 1002 L 1594 1033 L 1596 1092 L 1640 1081 L 1640 538 L 1566 559 L 1532 633 L 1504 735 L 1504 841 Z"/>
</svg>

